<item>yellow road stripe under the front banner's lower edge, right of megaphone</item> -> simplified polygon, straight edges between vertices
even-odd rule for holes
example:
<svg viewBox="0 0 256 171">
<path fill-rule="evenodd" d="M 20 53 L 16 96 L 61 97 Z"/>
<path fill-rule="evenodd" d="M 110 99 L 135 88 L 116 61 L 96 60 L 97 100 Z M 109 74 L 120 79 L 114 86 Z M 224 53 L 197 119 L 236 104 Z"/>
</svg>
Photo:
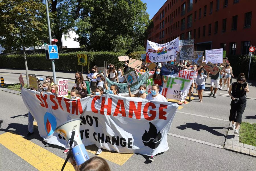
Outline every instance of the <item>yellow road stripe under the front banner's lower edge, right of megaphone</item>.
<svg viewBox="0 0 256 171">
<path fill-rule="evenodd" d="M 98 150 L 98 147 L 96 145 L 88 145 L 85 147 L 86 151 L 95 154 Z M 122 166 L 133 154 L 130 153 L 112 153 L 108 150 L 104 150 L 102 151 L 102 153 L 100 153 L 99 157 L 102 157 L 106 160 L 109 160 L 115 164 L 119 164 L 120 166 Z"/>
</svg>

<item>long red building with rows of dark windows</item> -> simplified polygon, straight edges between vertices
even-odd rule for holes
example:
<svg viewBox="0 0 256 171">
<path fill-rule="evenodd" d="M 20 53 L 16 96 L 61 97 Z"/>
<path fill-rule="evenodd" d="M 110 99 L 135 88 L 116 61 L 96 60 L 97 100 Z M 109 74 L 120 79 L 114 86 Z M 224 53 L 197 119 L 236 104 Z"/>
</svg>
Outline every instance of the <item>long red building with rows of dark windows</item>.
<svg viewBox="0 0 256 171">
<path fill-rule="evenodd" d="M 167 0 L 152 18 L 148 40 L 166 43 L 179 36 L 195 39 L 196 51 L 245 54 L 256 45 L 255 7 L 256 0 Z"/>
</svg>

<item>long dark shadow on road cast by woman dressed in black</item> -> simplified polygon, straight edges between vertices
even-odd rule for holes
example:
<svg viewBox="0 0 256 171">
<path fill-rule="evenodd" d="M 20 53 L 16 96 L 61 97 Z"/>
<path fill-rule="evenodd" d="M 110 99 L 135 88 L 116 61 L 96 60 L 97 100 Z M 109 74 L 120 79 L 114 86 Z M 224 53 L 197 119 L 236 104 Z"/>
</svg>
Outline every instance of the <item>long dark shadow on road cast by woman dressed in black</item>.
<svg viewBox="0 0 256 171">
<path fill-rule="evenodd" d="M 228 129 L 228 128 L 224 128 L 224 127 L 208 127 L 207 125 L 202 125 L 199 123 L 186 123 L 185 125 L 180 125 L 179 127 L 176 127 L 176 128 L 181 129 L 181 130 L 185 130 L 187 128 L 191 128 L 196 131 L 205 130 L 205 131 L 208 131 L 209 133 L 212 133 L 213 135 L 223 136 L 225 138 L 226 138 L 226 135 L 219 133 L 218 131 L 215 131 L 214 129 Z"/>
</svg>

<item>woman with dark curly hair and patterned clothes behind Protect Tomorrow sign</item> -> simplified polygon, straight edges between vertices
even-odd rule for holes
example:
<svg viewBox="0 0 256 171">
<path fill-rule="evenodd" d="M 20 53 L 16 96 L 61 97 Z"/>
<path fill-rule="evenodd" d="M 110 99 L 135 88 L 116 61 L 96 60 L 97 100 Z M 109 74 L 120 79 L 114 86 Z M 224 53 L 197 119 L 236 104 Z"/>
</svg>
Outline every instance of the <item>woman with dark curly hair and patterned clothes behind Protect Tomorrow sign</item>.
<svg viewBox="0 0 256 171">
<path fill-rule="evenodd" d="M 84 97 L 87 97 L 87 87 L 86 87 L 86 83 L 84 81 L 84 78 L 82 76 L 82 73 L 81 72 L 76 72 L 75 74 L 75 83 L 76 85 L 73 86 L 73 88 L 77 89 L 79 94 L 81 95 L 81 98 L 84 98 Z"/>
</svg>

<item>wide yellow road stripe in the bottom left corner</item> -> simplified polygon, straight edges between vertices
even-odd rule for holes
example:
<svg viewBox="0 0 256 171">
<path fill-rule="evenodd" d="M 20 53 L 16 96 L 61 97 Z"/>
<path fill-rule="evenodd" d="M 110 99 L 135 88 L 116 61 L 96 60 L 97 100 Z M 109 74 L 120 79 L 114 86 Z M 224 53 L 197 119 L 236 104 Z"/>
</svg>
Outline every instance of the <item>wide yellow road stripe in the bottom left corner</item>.
<svg viewBox="0 0 256 171">
<path fill-rule="evenodd" d="M 13 133 L 0 135 L 0 143 L 38 170 L 61 170 L 64 159 Z M 74 170 L 67 162 L 65 170 Z"/>
</svg>

